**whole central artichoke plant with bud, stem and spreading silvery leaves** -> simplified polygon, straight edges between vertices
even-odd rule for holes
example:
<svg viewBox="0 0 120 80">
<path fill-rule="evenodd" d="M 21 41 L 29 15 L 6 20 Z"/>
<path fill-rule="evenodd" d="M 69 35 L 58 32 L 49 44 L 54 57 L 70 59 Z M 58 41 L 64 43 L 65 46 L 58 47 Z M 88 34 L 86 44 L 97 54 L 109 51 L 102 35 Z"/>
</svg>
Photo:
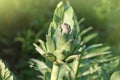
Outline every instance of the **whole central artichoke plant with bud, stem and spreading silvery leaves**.
<svg viewBox="0 0 120 80">
<path fill-rule="evenodd" d="M 55 9 L 46 41 L 39 39 L 35 49 L 45 62 L 31 59 L 31 67 L 42 73 L 43 80 L 109 80 L 111 61 L 119 60 L 110 54 L 110 47 L 87 43 L 96 37 L 89 27 L 80 31 L 79 22 L 69 3 L 60 2 Z M 111 63 L 110 63 L 111 62 Z M 108 71 L 107 71 L 108 70 Z"/>
</svg>

